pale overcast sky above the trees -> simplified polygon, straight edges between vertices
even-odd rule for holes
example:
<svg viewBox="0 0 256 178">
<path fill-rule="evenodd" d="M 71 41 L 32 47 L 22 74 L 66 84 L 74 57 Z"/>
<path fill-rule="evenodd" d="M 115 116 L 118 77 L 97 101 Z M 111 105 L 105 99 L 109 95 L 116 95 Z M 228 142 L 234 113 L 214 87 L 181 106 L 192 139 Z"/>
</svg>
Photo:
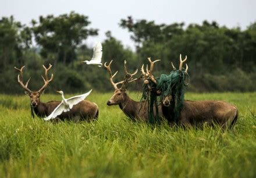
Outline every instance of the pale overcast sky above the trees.
<svg viewBox="0 0 256 178">
<path fill-rule="evenodd" d="M 40 15 L 55 16 L 70 11 L 89 16 L 91 27 L 99 29 L 98 37 L 89 38 L 87 44 L 103 41 L 105 32 L 133 48 L 130 34 L 118 25 L 120 19 L 133 16 L 134 19 L 154 20 L 155 23 L 184 22 L 202 23 L 215 20 L 221 26 L 245 29 L 256 20 L 256 0 L 158 0 L 158 1 L 62 1 L 62 0 L 0 0 L 0 17 L 13 15 L 16 20 L 29 24 Z"/>
</svg>

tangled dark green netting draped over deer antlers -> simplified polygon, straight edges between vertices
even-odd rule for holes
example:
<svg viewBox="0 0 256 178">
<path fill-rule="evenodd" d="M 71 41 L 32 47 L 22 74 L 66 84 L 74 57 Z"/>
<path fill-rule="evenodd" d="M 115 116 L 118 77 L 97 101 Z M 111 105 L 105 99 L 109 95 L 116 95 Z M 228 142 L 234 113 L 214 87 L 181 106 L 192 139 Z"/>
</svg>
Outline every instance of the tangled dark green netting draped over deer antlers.
<svg viewBox="0 0 256 178">
<path fill-rule="evenodd" d="M 173 70 L 169 75 L 161 74 L 157 78 L 157 84 L 150 81 L 145 84 L 143 90 L 143 97 L 141 101 L 146 100 L 148 102 L 148 117 L 150 123 L 159 123 L 160 118 L 158 115 L 159 99 L 163 99 L 167 95 L 172 95 L 172 99 L 175 101 L 173 120 L 178 122 L 180 111 L 183 108 L 185 87 L 188 85 L 185 81 L 189 77 L 184 70 Z M 161 90 L 160 98 L 157 96 L 157 90 Z M 156 109 L 156 116 L 154 117 L 154 106 Z"/>
</svg>

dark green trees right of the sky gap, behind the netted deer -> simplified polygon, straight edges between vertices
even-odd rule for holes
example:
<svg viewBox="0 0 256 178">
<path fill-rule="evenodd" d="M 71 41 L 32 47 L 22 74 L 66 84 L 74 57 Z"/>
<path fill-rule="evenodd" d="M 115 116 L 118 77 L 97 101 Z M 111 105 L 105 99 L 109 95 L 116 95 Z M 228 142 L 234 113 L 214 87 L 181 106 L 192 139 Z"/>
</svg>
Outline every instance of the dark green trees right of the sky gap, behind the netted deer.
<svg viewBox="0 0 256 178">
<path fill-rule="evenodd" d="M 155 24 L 154 21 L 127 17 L 121 20 L 120 26 L 131 33 L 131 39 L 137 44 L 138 57 L 144 61 L 148 56 L 162 59 L 155 67 L 155 76 L 169 73 L 170 62 L 177 65 L 177 56 L 183 54 L 188 56 L 191 91 L 255 90 L 248 82 L 256 70 L 255 24 L 241 31 L 204 21 L 202 25 L 189 24 L 185 29 L 183 23 Z M 243 74 L 239 75 L 237 71 L 246 73 L 247 79 L 242 80 Z M 226 80 L 232 79 L 232 76 L 239 76 L 239 87 Z"/>
</svg>

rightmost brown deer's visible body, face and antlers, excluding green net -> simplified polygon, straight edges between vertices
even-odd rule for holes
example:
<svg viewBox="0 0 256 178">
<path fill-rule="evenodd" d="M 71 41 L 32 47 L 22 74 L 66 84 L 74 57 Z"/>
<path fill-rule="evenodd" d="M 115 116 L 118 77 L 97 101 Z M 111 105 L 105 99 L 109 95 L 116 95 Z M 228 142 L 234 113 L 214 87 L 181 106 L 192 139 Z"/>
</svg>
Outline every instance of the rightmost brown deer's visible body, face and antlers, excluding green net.
<svg viewBox="0 0 256 178">
<path fill-rule="evenodd" d="M 179 70 L 183 70 L 183 63 L 186 62 L 187 56 L 182 60 L 180 55 Z M 151 61 L 150 61 L 151 62 Z M 152 62 L 151 62 L 152 63 Z M 143 69 L 144 66 L 141 68 Z M 173 70 L 176 67 L 172 63 Z M 186 64 L 185 72 L 189 67 Z M 144 72 L 144 69 L 143 69 Z M 157 79 L 152 74 L 152 70 L 147 73 L 143 73 L 144 80 L 151 80 L 154 84 L 157 84 Z M 161 94 L 161 91 L 155 91 L 157 94 Z M 222 129 L 232 129 L 239 116 L 239 111 L 236 106 L 229 104 L 225 101 L 190 101 L 184 100 L 182 111 L 180 112 L 178 123 L 174 120 L 174 109 L 176 106 L 175 95 L 168 94 L 161 98 L 161 108 L 165 119 L 168 120 L 170 126 L 175 124 L 182 124 L 185 127 L 200 127 L 204 124 L 209 126 L 219 125 Z"/>
</svg>

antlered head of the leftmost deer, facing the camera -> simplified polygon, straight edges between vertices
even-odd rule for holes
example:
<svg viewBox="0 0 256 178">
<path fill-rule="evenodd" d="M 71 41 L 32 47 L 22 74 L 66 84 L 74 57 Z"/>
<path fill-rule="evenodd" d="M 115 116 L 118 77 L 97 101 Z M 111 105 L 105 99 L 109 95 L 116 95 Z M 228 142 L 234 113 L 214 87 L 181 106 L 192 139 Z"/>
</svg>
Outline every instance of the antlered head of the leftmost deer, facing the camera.
<svg viewBox="0 0 256 178">
<path fill-rule="evenodd" d="M 44 86 L 42 86 L 40 88 L 40 90 L 38 90 L 38 91 L 31 91 L 29 88 L 27 88 L 27 85 L 29 84 L 29 81 L 30 81 L 31 77 L 29 78 L 29 80 L 27 80 L 26 84 L 23 83 L 23 69 L 24 69 L 24 67 L 25 66 L 23 66 L 20 69 L 15 67 L 15 69 L 19 70 L 19 72 L 20 72 L 18 74 L 17 80 L 20 83 L 20 86 L 22 86 L 22 88 L 24 88 L 25 93 L 27 95 L 29 95 L 30 101 L 31 101 L 31 106 L 36 107 L 40 103 L 40 95 L 43 94 L 45 88 L 52 81 L 52 79 L 54 79 L 54 74 L 52 74 L 51 79 L 48 79 L 48 76 L 47 76 L 48 70 L 51 69 L 52 65 L 49 64 L 48 68 L 46 68 L 44 65 L 42 65 L 42 67 L 44 67 L 44 69 L 45 69 L 45 77 L 42 76 L 42 79 L 44 80 Z"/>
</svg>

